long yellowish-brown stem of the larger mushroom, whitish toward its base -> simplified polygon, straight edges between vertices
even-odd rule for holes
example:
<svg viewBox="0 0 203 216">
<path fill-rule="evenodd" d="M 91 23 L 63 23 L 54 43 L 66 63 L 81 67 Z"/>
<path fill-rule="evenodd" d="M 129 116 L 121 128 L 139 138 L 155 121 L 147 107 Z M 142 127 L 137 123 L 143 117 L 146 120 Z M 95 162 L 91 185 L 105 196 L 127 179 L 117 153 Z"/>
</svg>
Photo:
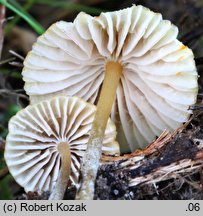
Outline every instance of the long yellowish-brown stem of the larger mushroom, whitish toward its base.
<svg viewBox="0 0 203 216">
<path fill-rule="evenodd" d="M 82 183 L 77 199 L 92 200 L 94 197 L 94 182 L 99 168 L 104 133 L 122 70 L 123 68 L 118 62 L 111 61 L 106 64 L 105 78 L 81 168 Z"/>
</svg>

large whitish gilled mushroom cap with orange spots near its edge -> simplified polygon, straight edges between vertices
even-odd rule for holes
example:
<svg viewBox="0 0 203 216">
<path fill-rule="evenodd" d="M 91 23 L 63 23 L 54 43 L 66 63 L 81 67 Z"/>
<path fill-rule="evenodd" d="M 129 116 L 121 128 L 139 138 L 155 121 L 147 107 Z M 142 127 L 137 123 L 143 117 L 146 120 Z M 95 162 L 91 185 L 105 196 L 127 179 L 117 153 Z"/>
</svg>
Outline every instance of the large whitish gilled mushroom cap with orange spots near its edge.
<svg viewBox="0 0 203 216">
<path fill-rule="evenodd" d="M 31 103 L 57 94 L 95 103 L 108 61 L 123 74 L 111 117 L 122 148 L 144 147 L 164 130 L 187 121 L 197 95 L 192 51 L 177 40 L 178 29 L 143 6 L 80 13 L 43 34 L 24 62 Z M 127 145 L 128 144 L 128 145 Z"/>
</svg>

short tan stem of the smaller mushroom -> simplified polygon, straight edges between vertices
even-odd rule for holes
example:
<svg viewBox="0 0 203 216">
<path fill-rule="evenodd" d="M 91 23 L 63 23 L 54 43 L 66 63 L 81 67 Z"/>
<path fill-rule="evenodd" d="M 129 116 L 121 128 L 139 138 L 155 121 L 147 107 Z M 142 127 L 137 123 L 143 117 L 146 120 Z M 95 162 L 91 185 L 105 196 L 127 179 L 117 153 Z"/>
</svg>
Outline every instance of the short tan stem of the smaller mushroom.
<svg viewBox="0 0 203 216">
<path fill-rule="evenodd" d="M 71 152 L 69 144 L 61 142 L 58 144 L 57 148 L 61 155 L 61 170 L 54 191 L 51 193 L 49 200 L 63 199 L 71 172 Z"/>
</svg>

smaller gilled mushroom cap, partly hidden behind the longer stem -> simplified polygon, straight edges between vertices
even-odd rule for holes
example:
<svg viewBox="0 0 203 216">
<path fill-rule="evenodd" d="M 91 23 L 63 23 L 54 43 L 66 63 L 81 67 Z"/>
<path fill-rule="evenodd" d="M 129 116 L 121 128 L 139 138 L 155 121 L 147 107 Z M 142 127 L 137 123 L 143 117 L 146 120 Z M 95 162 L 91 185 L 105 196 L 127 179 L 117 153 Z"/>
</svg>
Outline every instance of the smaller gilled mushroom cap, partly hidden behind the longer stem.
<svg viewBox="0 0 203 216">
<path fill-rule="evenodd" d="M 77 184 L 80 162 L 87 146 L 95 106 L 76 97 L 56 97 L 18 112 L 9 122 L 5 160 L 10 173 L 25 191 L 51 191 L 61 162 L 57 145 L 71 151 L 70 180 Z M 116 128 L 109 119 L 102 151 L 118 154 Z"/>
</svg>

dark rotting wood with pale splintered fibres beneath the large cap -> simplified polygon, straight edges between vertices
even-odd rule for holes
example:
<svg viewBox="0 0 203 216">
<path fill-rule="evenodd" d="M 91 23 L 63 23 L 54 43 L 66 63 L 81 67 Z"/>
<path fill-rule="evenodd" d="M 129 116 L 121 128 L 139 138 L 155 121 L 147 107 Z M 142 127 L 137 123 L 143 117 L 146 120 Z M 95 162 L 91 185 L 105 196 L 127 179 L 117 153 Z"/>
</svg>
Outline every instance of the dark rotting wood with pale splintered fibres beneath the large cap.
<svg viewBox="0 0 203 216">
<path fill-rule="evenodd" d="M 202 112 L 200 112 L 202 115 Z M 203 118 L 200 114 L 199 118 Z M 189 120 L 192 125 L 194 116 Z M 196 119 L 195 118 L 195 119 Z M 201 120 L 199 120 L 201 122 Z M 188 133 L 184 130 L 186 123 L 170 135 L 166 132 L 144 151 L 109 159 L 103 157 L 96 179 L 95 199 L 129 199 L 140 188 L 153 187 L 163 181 L 177 183 L 188 176 L 201 173 L 203 169 L 203 140 L 199 137 L 196 126 Z M 199 125 L 200 130 L 201 125 Z M 181 131 L 183 131 L 181 133 Z M 195 181 L 195 180 L 194 180 Z M 200 183 L 199 183 L 200 181 Z M 200 180 L 188 182 L 190 186 L 201 191 Z M 168 184 L 166 183 L 166 184 Z M 196 183 L 196 184 L 195 184 Z M 159 184 L 160 185 L 160 184 Z M 109 191 L 118 190 L 118 196 Z M 160 192 L 160 190 L 158 190 Z M 134 195 L 133 195 L 134 196 Z M 132 197 L 133 198 L 133 197 Z M 135 198 L 135 197 L 134 197 Z"/>
</svg>

